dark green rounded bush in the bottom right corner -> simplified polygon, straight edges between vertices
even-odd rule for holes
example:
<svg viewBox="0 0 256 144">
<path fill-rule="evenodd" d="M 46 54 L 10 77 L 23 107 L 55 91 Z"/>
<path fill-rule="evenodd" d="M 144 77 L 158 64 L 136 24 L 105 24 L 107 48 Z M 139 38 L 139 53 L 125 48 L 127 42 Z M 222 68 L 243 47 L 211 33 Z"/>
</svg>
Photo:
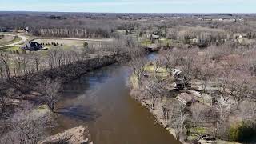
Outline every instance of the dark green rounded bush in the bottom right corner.
<svg viewBox="0 0 256 144">
<path fill-rule="evenodd" d="M 236 125 L 230 126 L 229 137 L 230 140 L 236 142 L 246 142 L 250 138 L 254 138 L 256 134 L 256 125 L 254 122 L 240 122 Z"/>
</svg>

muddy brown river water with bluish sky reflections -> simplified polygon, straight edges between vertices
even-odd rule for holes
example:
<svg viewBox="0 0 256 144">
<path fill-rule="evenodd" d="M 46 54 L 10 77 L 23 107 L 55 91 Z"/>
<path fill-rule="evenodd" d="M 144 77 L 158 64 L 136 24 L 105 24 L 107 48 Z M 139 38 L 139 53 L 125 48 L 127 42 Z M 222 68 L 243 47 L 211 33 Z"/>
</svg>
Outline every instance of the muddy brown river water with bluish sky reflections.
<svg viewBox="0 0 256 144">
<path fill-rule="evenodd" d="M 84 125 L 95 144 L 180 143 L 130 97 L 130 74 L 128 66 L 112 65 L 66 84 L 54 133 Z"/>
</svg>

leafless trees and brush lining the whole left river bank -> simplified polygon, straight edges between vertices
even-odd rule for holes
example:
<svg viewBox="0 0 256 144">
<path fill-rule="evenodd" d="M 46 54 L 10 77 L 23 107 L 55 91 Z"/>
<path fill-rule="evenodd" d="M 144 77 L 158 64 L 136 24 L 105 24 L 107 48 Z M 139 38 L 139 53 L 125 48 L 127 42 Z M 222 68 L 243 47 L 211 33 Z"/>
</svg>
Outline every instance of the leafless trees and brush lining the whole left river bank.
<svg viewBox="0 0 256 144">
<path fill-rule="evenodd" d="M 63 83 L 79 78 L 91 70 L 126 62 L 130 55 L 140 54 L 142 51 L 142 48 L 131 47 L 124 42 L 123 45 L 86 45 L 83 50 L 76 51 L 58 48 L 32 54 L 2 54 L 0 58 L 5 65 L 1 67 L 0 86 L 1 94 L 5 97 L 1 99 L 0 141 L 41 141 L 48 135 L 44 130 L 54 128 L 54 117 L 58 114 L 55 104 Z M 34 114 L 34 110 L 38 110 L 38 114 Z M 12 121 L 10 125 L 5 125 L 9 121 Z M 27 126 L 31 131 L 24 131 Z M 71 142 L 65 138 L 59 140 Z M 86 142 L 89 143 L 88 139 Z"/>
</svg>

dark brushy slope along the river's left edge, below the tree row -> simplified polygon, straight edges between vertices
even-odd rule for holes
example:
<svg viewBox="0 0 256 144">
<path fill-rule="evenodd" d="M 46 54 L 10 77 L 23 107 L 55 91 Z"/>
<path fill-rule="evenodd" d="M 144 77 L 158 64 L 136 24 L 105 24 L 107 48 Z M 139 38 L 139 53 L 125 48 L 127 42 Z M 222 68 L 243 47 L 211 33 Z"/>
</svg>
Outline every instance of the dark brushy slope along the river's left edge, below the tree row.
<svg viewBox="0 0 256 144">
<path fill-rule="evenodd" d="M 117 54 L 104 53 L 89 54 L 86 57 L 56 68 L 43 70 L 38 74 L 29 74 L 19 77 L 10 78 L 2 83 L 6 87 L 11 87 L 17 90 L 16 98 L 25 98 L 28 95 L 34 95 L 39 93 L 38 83 L 45 81 L 47 78 L 51 80 L 58 79 L 62 84 L 70 82 L 76 78 L 79 78 L 82 74 L 86 74 L 90 70 L 96 70 L 103 66 L 109 66 L 118 62 L 117 58 L 120 57 Z"/>
</svg>

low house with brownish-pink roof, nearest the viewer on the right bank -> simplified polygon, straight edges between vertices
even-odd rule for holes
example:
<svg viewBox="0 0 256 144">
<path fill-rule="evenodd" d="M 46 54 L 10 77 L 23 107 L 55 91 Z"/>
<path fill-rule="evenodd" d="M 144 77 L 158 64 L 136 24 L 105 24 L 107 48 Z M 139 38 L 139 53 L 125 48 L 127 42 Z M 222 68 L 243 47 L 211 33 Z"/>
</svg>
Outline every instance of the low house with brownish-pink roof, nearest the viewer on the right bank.
<svg viewBox="0 0 256 144">
<path fill-rule="evenodd" d="M 194 103 L 199 103 L 198 98 L 196 98 L 193 94 L 188 93 L 178 94 L 177 99 L 179 102 L 182 102 L 182 104 L 186 106 L 191 106 Z"/>
</svg>

